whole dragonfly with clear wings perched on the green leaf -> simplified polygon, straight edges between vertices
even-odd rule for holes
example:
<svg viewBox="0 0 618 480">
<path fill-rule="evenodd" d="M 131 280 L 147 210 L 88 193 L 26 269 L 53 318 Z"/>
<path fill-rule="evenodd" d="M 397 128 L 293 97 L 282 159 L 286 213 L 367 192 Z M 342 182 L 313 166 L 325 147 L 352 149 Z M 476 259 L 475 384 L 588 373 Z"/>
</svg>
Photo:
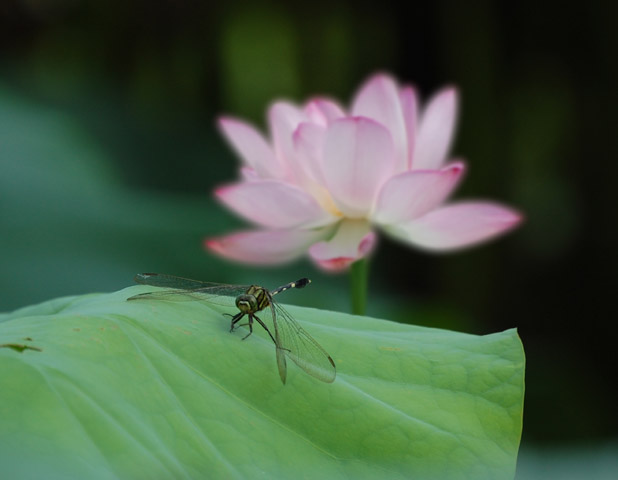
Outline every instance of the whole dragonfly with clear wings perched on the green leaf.
<svg viewBox="0 0 618 480">
<path fill-rule="evenodd" d="M 229 305 L 233 299 L 238 313 L 226 314 L 232 317 L 230 332 L 240 326 L 248 326 L 253 333 L 253 322 L 259 323 L 275 344 L 279 377 L 283 384 L 287 378 L 286 357 L 314 378 L 331 383 L 335 380 L 336 367 L 332 357 L 309 335 L 292 316 L 279 305 L 273 297 L 290 288 L 304 288 L 311 283 L 308 278 L 301 278 L 274 290 L 259 285 L 226 285 L 224 283 L 202 282 L 188 278 L 161 273 L 139 273 L 135 281 L 142 285 L 162 287 L 166 290 L 141 293 L 127 300 L 200 300 L 209 303 Z M 231 297 L 231 298 L 230 298 Z M 270 308 L 274 332 L 257 316 L 258 312 Z M 247 317 L 247 323 L 240 321 Z"/>
</svg>

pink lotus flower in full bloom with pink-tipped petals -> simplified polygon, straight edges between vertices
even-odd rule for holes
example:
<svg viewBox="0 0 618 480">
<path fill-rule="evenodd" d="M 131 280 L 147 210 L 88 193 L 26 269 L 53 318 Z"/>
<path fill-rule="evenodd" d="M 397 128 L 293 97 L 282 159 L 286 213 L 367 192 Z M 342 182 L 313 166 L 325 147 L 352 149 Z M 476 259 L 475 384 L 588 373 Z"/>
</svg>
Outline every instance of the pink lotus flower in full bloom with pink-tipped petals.
<svg viewBox="0 0 618 480">
<path fill-rule="evenodd" d="M 411 87 L 377 74 L 349 113 L 324 98 L 302 108 L 276 102 L 268 113 L 271 142 L 241 120 L 221 118 L 244 178 L 216 196 L 259 229 L 206 246 L 254 264 L 308 251 L 321 267 L 340 270 L 371 252 L 375 229 L 426 250 L 459 249 L 506 232 L 521 220 L 511 208 L 444 204 L 465 170 L 461 161 L 445 163 L 456 113 L 454 88 L 421 110 Z"/>
</svg>

